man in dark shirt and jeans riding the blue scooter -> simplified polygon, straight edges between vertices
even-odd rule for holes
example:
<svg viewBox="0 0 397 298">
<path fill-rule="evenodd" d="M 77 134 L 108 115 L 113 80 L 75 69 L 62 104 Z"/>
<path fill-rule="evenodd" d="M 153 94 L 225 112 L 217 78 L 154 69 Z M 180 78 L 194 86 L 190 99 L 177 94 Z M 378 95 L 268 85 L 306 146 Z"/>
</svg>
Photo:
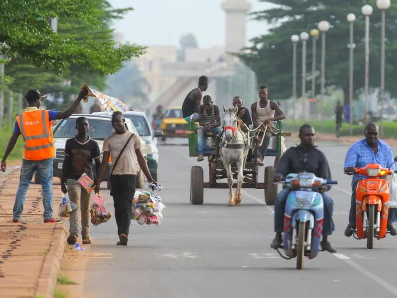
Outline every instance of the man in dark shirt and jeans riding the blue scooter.
<svg viewBox="0 0 397 298">
<path fill-rule="evenodd" d="M 282 155 L 273 177 L 275 182 L 280 181 L 282 177 L 286 177 L 288 174 L 298 174 L 304 171 L 311 172 L 319 178 L 331 180 L 331 171 L 327 157 L 314 146 L 314 136 L 314 128 L 310 125 L 305 124 L 300 127 L 299 138 L 301 139 L 301 144 L 297 147 L 289 148 Z M 324 201 L 324 225 L 321 247 L 324 250 L 334 253 L 336 249 L 328 241 L 328 236 L 335 229 L 332 221 L 333 201 L 330 195 L 326 193 L 330 189 L 330 185 L 320 187 L 320 193 L 323 195 Z M 281 233 L 284 231 L 285 203 L 290 191 L 290 187 L 284 188 L 277 195 L 274 203 L 274 231 L 276 232 L 276 237 L 270 245 L 274 249 L 277 249 L 282 243 Z"/>
</svg>

